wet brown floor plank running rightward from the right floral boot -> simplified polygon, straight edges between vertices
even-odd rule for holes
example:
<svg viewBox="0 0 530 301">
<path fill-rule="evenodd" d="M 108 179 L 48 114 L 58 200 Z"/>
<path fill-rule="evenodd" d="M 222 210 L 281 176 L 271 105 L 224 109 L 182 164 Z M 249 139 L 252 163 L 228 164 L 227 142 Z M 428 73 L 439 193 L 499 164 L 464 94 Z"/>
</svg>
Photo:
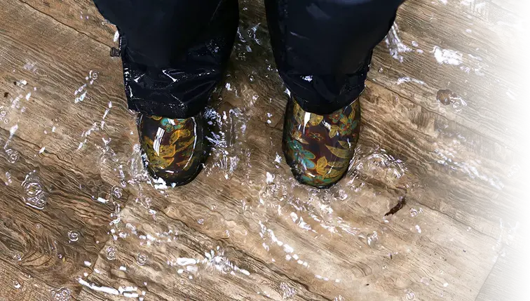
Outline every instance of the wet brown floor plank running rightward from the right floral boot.
<svg viewBox="0 0 530 301">
<path fill-rule="evenodd" d="M 367 83 L 361 100 L 361 145 L 405 161 L 400 182 L 409 198 L 530 252 L 527 227 L 508 240 L 508 223 L 524 225 L 529 215 L 529 160 L 376 83 Z M 517 178 L 508 177 L 513 164 L 522 170 Z"/>
</svg>

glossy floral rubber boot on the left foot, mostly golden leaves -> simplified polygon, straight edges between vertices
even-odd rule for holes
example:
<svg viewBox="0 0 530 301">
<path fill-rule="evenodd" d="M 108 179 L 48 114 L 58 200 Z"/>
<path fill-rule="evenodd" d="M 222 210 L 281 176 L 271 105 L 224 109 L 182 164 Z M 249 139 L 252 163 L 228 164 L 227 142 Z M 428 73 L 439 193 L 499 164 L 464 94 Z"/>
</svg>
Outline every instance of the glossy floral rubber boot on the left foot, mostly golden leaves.
<svg viewBox="0 0 530 301">
<path fill-rule="evenodd" d="M 167 185 L 180 186 L 191 182 L 203 168 L 208 157 L 203 116 L 169 119 L 141 114 L 138 133 L 142 159 L 154 178 Z"/>
</svg>

